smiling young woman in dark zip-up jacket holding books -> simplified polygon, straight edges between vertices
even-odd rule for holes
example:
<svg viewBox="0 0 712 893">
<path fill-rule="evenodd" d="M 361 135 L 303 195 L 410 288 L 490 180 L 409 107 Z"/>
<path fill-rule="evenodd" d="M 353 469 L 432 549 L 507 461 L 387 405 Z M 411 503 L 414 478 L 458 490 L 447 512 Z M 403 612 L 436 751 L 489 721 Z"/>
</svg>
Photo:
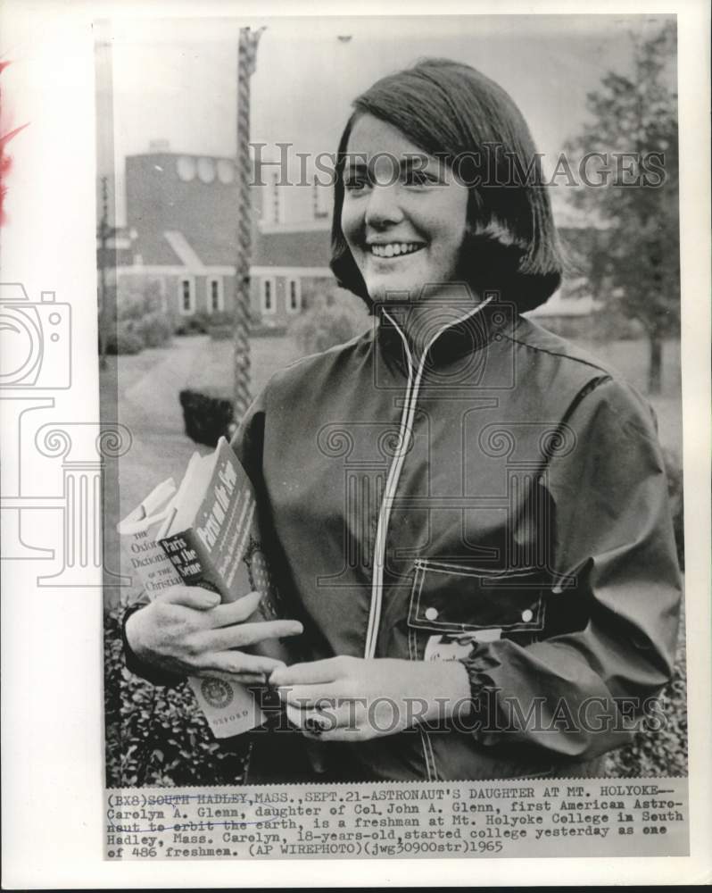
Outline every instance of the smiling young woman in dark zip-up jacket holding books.
<svg viewBox="0 0 712 893">
<path fill-rule="evenodd" d="M 540 174 L 515 104 L 467 65 L 354 103 L 332 268 L 374 326 L 278 371 L 234 441 L 297 620 L 176 589 L 126 625 L 155 680 L 269 673 L 297 731 L 255 735 L 248 780 L 591 774 L 669 678 L 650 409 L 521 315 L 561 278 Z M 235 650 L 293 633 L 288 667 Z M 296 739 L 322 742 L 299 772 Z"/>
</svg>

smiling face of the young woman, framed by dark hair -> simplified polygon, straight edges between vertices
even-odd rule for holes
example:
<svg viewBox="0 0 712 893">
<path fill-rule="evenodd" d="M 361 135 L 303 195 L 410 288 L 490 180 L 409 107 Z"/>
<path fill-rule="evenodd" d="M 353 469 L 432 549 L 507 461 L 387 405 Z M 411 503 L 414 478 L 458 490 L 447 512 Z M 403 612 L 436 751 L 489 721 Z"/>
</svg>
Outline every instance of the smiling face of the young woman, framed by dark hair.
<svg viewBox="0 0 712 893">
<path fill-rule="evenodd" d="M 430 295 L 457 279 L 468 188 L 369 114 L 355 122 L 347 152 L 341 228 L 371 299 L 415 300 L 424 286 Z"/>
</svg>

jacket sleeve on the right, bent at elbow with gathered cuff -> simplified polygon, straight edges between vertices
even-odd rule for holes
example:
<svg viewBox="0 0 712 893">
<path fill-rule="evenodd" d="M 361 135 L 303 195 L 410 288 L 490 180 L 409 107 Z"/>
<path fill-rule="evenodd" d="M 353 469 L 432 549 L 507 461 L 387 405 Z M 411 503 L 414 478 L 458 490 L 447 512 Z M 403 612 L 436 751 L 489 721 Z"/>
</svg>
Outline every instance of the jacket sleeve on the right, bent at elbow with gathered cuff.
<svg viewBox="0 0 712 893">
<path fill-rule="evenodd" d="M 625 744 L 631 716 L 669 680 L 681 580 L 648 406 L 606 379 L 566 422 L 575 446 L 551 458 L 543 480 L 553 569 L 575 582 L 552 587 L 546 600 L 553 612 L 561 599 L 578 600 L 584 620 L 528 646 L 480 643 L 464 663 L 480 744 L 588 760 Z"/>
</svg>

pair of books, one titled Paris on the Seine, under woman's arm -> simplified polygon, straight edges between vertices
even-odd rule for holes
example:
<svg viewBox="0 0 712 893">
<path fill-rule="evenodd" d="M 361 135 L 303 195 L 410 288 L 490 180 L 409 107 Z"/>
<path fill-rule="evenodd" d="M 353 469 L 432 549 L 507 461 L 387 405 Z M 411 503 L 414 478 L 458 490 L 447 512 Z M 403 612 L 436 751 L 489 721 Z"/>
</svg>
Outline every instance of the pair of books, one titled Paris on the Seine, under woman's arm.
<svg viewBox="0 0 712 893">
<path fill-rule="evenodd" d="M 277 587 L 262 549 L 251 481 L 225 438 L 209 455 L 194 453 L 176 489 L 164 480 L 120 523 L 131 538 L 132 568 L 149 598 L 170 586 L 201 586 L 234 602 L 261 592 L 250 622 L 282 616 Z M 287 662 L 278 639 L 251 647 L 253 653 Z M 188 683 L 216 738 L 242 734 L 265 722 L 254 693 L 228 674 L 191 677 Z"/>
</svg>

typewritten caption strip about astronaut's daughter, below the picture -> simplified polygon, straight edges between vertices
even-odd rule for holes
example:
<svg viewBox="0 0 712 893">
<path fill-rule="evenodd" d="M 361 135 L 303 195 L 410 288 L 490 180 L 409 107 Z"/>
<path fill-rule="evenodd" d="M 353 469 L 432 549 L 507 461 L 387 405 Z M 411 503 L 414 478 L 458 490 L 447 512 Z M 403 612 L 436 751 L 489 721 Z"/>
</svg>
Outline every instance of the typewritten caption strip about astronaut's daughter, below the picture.
<svg viewBox="0 0 712 893">
<path fill-rule="evenodd" d="M 105 857 L 688 855 L 687 779 L 108 790 Z"/>
</svg>

